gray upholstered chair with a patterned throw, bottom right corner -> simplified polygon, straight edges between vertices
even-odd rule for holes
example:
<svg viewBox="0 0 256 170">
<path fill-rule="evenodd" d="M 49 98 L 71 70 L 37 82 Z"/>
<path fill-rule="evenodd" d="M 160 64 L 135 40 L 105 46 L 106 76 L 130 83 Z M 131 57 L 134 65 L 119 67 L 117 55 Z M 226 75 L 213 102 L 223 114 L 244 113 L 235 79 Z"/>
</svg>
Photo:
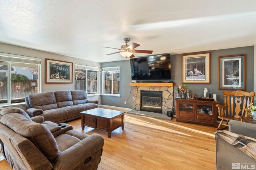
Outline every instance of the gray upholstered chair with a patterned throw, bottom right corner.
<svg viewBox="0 0 256 170">
<path fill-rule="evenodd" d="M 256 140 L 256 125 L 252 123 L 245 123 L 241 121 L 231 120 L 229 122 L 228 131 L 247 137 L 254 138 Z M 216 168 L 217 170 L 229 170 L 232 167 L 232 163 L 240 164 L 256 164 L 256 161 L 238 150 L 236 147 L 230 145 L 224 139 L 215 135 L 216 140 Z"/>
</svg>

